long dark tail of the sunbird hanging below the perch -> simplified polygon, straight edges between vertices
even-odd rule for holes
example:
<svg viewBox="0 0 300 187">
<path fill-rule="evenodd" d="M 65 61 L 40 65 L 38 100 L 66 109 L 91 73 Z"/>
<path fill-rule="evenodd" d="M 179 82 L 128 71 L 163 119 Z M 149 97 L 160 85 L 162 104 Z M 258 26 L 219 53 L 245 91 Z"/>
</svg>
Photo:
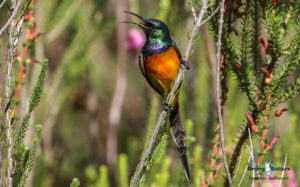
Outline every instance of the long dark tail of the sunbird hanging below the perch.
<svg viewBox="0 0 300 187">
<path fill-rule="evenodd" d="M 169 118 L 170 118 L 171 134 L 173 136 L 179 157 L 181 159 L 181 163 L 184 169 L 184 174 L 187 180 L 190 181 L 191 175 L 189 171 L 189 164 L 186 156 L 186 145 L 185 145 L 186 132 L 179 114 L 178 103 L 175 105 L 174 110 L 171 111 Z"/>
</svg>

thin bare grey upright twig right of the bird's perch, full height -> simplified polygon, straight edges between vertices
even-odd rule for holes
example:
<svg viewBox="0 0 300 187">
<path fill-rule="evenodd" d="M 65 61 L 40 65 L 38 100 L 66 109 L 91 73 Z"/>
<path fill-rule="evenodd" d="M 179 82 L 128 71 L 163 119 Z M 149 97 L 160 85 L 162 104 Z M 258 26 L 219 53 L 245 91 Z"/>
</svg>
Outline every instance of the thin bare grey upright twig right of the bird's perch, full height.
<svg viewBox="0 0 300 187">
<path fill-rule="evenodd" d="M 216 73 L 216 91 L 217 91 L 217 105 L 218 105 L 218 118 L 220 124 L 220 136 L 221 136 L 221 148 L 222 148 L 222 156 L 223 162 L 227 173 L 227 178 L 229 185 L 232 186 L 232 179 L 229 172 L 229 167 L 227 164 L 226 153 L 225 153 L 225 138 L 224 138 L 224 125 L 222 119 L 222 111 L 221 111 L 221 92 L 220 92 L 220 63 L 221 63 L 221 40 L 222 40 L 222 31 L 223 31 L 223 22 L 224 22 L 224 4 L 225 0 L 221 2 L 221 11 L 220 11 L 220 20 L 219 20 L 219 31 L 218 31 L 218 42 L 217 42 L 217 73 Z"/>
</svg>

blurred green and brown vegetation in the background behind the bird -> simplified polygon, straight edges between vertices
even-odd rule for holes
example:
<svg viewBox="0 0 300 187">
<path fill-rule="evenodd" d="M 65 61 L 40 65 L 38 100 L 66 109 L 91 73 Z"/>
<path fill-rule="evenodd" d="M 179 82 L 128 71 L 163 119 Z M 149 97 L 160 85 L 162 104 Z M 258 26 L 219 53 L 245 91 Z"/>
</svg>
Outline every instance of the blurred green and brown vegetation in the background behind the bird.
<svg viewBox="0 0 300 187">
<path fill-rule="evenodd" d="M 7 8 L 0 12 L 1 25 Z M 138 69 L 137 54 L 145 37 L 136 20 L 123 13 L 163 20 L 178 47 L 184 51 L 193 17 L 188 1 L 179 0 L 51 0 L 34 1 L 32 19 L 39 36 L 29 48 L 28 59 L 49 59 L 45 92 L 32 124 L 41 123 L 43 132 L 37 162 L 28 186 L 68 186 L 78 177 L 82 186 L 127 186 L 142 155 L 162 100 L 148 86 Z M 238 27 L 238 24 L 236 24 Z M 26 30 L 24 29 L 24 33 Z M 201 183 L 202 171 L 209 173 L 210 150 L 217 124 L 215 108 L 215 42 L 207 25 L 201 28 L 193 48 L 191 68 L 181 87 L 181 113 L 188 131 L 193 186 Z M 25 34 L 18 50 L 23 53 Z M 3 39 L 5 41 L 5 38 Z M 1 51 L 5 54 L 5 43 Z M 4 56 L 1 55 L 1 62 Z M 18 64 L 14 76 L 17 79 Z M 41 65 L 26 65 L 17 116 L 27 110 Z M 299 68 L 297 72 L 299 73 Z M 3 80 L 3 77 L 1 76 Z M 3 82 L 3 81 L 1 81 Z M 247 99 L 235 77 L 228 81 L 224 109 L 226 152 L 233 152 L 240 129 L 246 122 Z M 270 121 L 268 137 L 280 136 L 266 160 L 282 166 L 285 153 L 289 176 L 297 185 L 300 177 L 300 98 L 286 103 L 289 112 Z M 20 120 L 16 125 L 20 124 Z M 33 126 L 26 141 L 32 142 Z M 148 174 L 146 186 L 185 186 L 178 155 L 171 138 Z M 254 142 L 259 150 L 259 142 Z M 246 151 L 245 151 L 246 152 Z M 217 154 L 220 156 L 220 152 Z M 219 157 L 220 158 L 220 157 Z M 247 154 L 244 155 L 245 167 Z M 220 159 L 217 163 L 221 163 Z M 223 169 L 215 185 L 223 184 Z M 245 179 L 246 181 L 248 179 Z M 290 181 L 286 181 L 288 186 Z"/>
</svg>

